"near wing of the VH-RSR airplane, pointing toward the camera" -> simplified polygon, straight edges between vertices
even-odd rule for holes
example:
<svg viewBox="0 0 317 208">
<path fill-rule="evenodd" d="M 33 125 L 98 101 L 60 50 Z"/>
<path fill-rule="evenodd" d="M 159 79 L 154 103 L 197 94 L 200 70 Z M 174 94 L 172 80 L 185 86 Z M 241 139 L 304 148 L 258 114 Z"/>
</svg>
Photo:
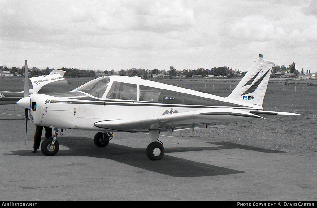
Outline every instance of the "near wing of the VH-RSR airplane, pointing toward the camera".
<svg viewBox="0 0 317 208">
<path fill-rule="evenodd" d="M 96 127 L 111 131 L 148 132 L 149 130 L 174 130 L 195 126 L 234 123 L 264 119 L 234 108 L 208 108 L 175 114 L 165 114 L 140 120 L 104 120 L 94 123 Z"/>
</svg>

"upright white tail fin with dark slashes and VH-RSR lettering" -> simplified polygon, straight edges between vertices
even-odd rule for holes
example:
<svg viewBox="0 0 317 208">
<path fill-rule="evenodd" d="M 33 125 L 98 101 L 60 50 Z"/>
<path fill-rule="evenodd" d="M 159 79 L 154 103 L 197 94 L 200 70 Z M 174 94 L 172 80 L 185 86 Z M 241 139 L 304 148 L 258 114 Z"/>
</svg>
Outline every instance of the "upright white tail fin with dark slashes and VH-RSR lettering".
<svg viewBox="0 0 317 208">
<path fill-rule="evenodd" d="M 247 74 L 227 98 L 262 106 L 274 62 L 256 59 Z"/>
</svg>

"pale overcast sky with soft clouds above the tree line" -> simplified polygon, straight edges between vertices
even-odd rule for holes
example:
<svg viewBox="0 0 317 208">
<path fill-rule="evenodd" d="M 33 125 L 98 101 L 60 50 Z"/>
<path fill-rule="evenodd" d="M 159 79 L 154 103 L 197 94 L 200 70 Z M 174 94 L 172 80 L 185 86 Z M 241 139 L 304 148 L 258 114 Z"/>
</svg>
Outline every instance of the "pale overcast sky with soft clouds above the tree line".
<svg viewBox="0 0 317 208">
<path fill-rule="evenodd" d="M 317 71 L 317 0 L 1 0 L 0 65 Z"/>
</svg>

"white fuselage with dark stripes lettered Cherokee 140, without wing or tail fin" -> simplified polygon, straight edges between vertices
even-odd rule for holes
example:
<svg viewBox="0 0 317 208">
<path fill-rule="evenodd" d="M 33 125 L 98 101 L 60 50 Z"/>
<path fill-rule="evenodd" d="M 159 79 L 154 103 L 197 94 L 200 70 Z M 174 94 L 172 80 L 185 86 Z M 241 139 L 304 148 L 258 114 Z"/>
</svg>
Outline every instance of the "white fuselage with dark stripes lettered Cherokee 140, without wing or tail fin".
<svg viewBox="0 0 317 208">
<path fill-rule="evenodd" d="M 31 94 L 30 100 L 29 117 L 35 125 L 96 131 L 120 131 L 95 126 L 99 121 L 138 120 L 215 107 L 247 112 L 262 109 L 247 102 L 123 76 L 100 77 L 71 92 Z"/>
</svg>

